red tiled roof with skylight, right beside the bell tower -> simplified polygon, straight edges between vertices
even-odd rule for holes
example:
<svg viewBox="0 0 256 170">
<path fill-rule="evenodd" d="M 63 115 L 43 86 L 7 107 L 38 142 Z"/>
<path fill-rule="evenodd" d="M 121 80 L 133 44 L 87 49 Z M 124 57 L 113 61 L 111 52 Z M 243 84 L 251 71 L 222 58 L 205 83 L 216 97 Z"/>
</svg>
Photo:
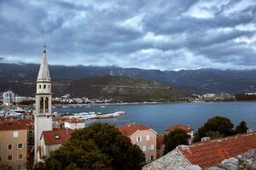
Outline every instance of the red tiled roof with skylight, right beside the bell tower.
<svg viewBox="0 0 256 170">
<path fill-rule="evenodd" d="M 44 137 L 45 144 L 63 144 L 70 139 L 72 133 L 72 129 L 54 128 L 52 131 L 44 131 L 41 139 Z"/>
</svg>

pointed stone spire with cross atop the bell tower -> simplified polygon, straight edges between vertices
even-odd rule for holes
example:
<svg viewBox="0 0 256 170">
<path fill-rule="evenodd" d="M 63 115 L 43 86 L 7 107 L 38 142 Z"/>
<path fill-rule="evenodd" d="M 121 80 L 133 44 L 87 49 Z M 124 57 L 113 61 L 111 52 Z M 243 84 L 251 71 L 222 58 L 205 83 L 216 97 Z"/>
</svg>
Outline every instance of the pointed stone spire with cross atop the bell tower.
<svg viewBox="0 0 256 170">
<path fill-rule="evenodd" d="M 38 72 L 38 82 L 50 82 L 49 68 L 46 59 L 46 46 L 44 44 L 43 59 L 41 61 L 40 69 Z"/>
</svg>

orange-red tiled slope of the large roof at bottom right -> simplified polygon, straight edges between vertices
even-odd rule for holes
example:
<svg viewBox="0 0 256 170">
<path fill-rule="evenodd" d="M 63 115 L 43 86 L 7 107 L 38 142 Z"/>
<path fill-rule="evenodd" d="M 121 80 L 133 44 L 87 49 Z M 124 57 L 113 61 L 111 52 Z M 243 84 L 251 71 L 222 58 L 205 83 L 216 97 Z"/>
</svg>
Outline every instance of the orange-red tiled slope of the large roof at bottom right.
<svg viewBox="0 0 256 170">
<path fill-rule="evenodd" d="M 203 168 L 217 166 L 224 159 L 238 156 L 255 148 L 256 133 L 238 134 L 223 139 L 212 139 L 185 147 L 181 145 L 177 147 L 192 164 Z"/>
</svg>

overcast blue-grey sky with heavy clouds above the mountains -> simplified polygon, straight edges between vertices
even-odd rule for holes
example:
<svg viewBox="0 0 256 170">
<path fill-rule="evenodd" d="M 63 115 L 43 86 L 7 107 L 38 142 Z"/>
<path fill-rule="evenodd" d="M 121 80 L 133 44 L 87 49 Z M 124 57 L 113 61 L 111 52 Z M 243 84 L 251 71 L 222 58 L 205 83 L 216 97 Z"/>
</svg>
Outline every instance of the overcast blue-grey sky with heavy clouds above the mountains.
<svg viewBox="0 0 256 170">
<path fill-rule="evenodd" d="M 0 62 L 256 69 L 256 0 L 0 0 Z"/>
</svg>

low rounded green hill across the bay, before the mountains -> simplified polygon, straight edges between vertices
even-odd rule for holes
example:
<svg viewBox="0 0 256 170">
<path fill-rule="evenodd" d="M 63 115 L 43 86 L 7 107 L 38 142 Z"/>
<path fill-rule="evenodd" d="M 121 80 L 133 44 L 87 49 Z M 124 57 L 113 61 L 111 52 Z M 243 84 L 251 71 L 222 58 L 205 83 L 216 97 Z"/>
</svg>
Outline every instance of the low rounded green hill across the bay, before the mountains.
<svg viewBox="0 0 256 170">
<path fill-rule="evenodd" d="M 77 97 L 124 102 L 175 101 L 184 97 L 181 92 L 158 82 L 131 77 L 90 77 L 71 82 L 66 91 Z"/>
</svg>

